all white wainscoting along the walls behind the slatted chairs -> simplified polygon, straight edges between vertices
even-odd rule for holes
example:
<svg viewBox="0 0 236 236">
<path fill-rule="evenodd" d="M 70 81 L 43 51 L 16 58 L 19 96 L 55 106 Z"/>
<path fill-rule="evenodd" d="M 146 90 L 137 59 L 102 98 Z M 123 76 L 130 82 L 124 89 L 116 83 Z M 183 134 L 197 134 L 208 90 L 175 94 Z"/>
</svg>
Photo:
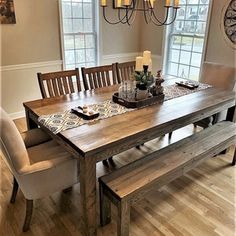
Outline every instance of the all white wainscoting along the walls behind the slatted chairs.
<svg viewBox="0 0 236 236">
<path fill-rule="evenodd" d="M 101 65 L 115 62 L 133 61 L 140 52 L 103 55 Z M 153 73 L 161 68 L 161 56 L 153 55 Z M 0 67 L 0 104 L 12 119 L 25 115 L 23 102 L 40 99 L 37 72 L 62 69 L 62 61 L 38 62 Z"/>
</svg>

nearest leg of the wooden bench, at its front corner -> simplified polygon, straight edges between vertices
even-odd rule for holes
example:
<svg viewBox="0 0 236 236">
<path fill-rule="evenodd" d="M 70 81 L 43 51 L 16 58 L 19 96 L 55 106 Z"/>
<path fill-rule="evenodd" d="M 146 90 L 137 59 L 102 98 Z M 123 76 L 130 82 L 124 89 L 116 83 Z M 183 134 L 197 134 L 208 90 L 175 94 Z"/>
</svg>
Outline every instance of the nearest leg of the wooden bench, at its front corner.
<svg viewBox="0 0 236 236">
<path fill-rule="evenodd" d="M 130 204 L 121 201 L 118 206 L 117 236 L 129 236 Z"/>
</svg>

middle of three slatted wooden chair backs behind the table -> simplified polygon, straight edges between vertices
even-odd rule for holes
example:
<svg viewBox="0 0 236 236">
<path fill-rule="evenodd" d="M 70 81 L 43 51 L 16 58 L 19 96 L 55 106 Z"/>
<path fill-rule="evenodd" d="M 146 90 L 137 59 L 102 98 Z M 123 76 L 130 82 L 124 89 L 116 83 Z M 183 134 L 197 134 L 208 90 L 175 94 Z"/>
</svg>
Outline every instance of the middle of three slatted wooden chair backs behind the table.
<svg viewBox="0 0 236 236">
<path fill-rule="evenodd" d="M 81 68 L 85 90 L 117 84 L 116 64 Z"/>
</svg>

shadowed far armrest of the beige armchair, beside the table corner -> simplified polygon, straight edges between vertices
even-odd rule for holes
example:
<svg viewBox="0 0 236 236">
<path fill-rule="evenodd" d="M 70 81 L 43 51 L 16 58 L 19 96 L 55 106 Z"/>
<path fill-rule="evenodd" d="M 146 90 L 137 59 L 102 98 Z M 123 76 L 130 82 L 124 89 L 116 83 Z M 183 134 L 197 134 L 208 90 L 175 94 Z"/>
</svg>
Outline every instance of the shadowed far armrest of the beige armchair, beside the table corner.
<svg viewBox="0 0 236 236">
<path fill-rule="evenodd" d="M 51 140 L 51 137 L 39 128 L 25 131 L 21 133 L 21 137 L 25 143 L 26 148 Z"/>
</svg>

